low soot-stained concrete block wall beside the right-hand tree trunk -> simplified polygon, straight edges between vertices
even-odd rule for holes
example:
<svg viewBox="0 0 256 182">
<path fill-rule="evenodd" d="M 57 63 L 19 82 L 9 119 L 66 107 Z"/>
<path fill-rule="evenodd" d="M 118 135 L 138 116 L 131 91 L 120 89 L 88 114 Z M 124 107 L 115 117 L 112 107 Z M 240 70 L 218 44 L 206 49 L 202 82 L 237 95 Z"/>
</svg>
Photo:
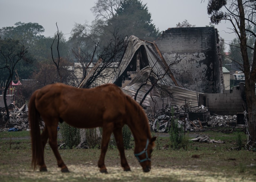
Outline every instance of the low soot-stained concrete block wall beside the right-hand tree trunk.
<svg viewBox="0 0 256 182">
<path fill-rule="evenodd" d="M 247 107 L 245 87 L 240 84 L 234 90 L 225 90 L 222 94 L 199 94 L 199 105 L 207 106 L 211 114 L 235 115 L 243 112 L 243 106 L 245 109 Z"/>
</svg>

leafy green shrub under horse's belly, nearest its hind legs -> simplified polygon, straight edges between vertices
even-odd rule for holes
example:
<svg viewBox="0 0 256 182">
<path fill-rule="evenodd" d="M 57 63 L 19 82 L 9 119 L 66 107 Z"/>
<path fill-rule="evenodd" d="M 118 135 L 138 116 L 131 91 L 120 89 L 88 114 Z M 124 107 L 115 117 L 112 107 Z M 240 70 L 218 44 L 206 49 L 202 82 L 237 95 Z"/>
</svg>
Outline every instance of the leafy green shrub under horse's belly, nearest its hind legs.
<svg viewBox="0 0 256 182">
<path fill-rule="evenodd" d="M 61 123 L 60 127 L 65 147 L 67 149 L 76 147 L 80 143 L 80 130 L 78 128 L 69 126 L 65 122 Z"/>
</svg>

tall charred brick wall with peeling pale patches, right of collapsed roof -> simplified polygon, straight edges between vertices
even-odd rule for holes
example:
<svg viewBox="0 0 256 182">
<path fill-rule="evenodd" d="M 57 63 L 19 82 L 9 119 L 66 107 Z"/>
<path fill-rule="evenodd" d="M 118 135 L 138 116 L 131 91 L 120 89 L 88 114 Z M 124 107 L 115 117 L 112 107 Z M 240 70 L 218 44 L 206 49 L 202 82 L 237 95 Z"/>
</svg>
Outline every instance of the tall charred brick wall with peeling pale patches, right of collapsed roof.
<svg viewBox="0 0 256 182">
<path fill-rule="evenodd" d="M 183 58 L 172 71 L 186 89 L 222 93 L 216 35 L 214 27 L 170 28 L 155 41 L 167 64 Z"/>
</svg>

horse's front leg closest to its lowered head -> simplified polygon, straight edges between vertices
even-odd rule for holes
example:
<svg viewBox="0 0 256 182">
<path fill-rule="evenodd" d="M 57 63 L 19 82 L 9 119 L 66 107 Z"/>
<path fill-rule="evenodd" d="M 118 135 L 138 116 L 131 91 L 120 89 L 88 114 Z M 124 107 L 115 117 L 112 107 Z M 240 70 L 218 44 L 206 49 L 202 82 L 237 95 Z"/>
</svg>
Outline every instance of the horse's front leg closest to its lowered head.
<svg viewBox="0 0 256 182">
<path fill-rule="evenodd" d="M 124 151 L 124 146 L 123 146 L 123 136 L 122 136 L 122 128 L 117 128 L 113 131 L 114 136 L 115 136 L 115 141 L 117 143 L 118 150 L 120 152 L 120 157 L 121 157 L 121 165 L 123 167 L 124 171 L 131 171 L 127 160 L 125 158 L 125 151 Z"/>
</svg>

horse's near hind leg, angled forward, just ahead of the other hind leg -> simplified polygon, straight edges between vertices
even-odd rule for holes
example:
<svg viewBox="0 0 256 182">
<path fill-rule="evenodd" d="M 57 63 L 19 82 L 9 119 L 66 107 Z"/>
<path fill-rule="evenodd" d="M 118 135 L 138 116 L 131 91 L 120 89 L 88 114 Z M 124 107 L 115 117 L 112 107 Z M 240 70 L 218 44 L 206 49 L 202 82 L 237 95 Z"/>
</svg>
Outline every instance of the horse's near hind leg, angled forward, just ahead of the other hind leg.
<svg viewBox="0 0 256 182">
<path fill-rule="evenodd" d="M 69 172 L 67 166 L 64 164 L 63 160 L 61 159 L 61 155 L 58 151 L 58 144 L 57 144 L 57 127 L 58 127 L 58 121 L 53 120 L 51 122 L 51 125 L 47 126 L 48 132 L 49 132 L 49 144 L 51 146 L 51 149 L 53 150 L 53 153 L 57 159 L 58 166 L 61 168 L 61 172 Z"/>
</svg>

